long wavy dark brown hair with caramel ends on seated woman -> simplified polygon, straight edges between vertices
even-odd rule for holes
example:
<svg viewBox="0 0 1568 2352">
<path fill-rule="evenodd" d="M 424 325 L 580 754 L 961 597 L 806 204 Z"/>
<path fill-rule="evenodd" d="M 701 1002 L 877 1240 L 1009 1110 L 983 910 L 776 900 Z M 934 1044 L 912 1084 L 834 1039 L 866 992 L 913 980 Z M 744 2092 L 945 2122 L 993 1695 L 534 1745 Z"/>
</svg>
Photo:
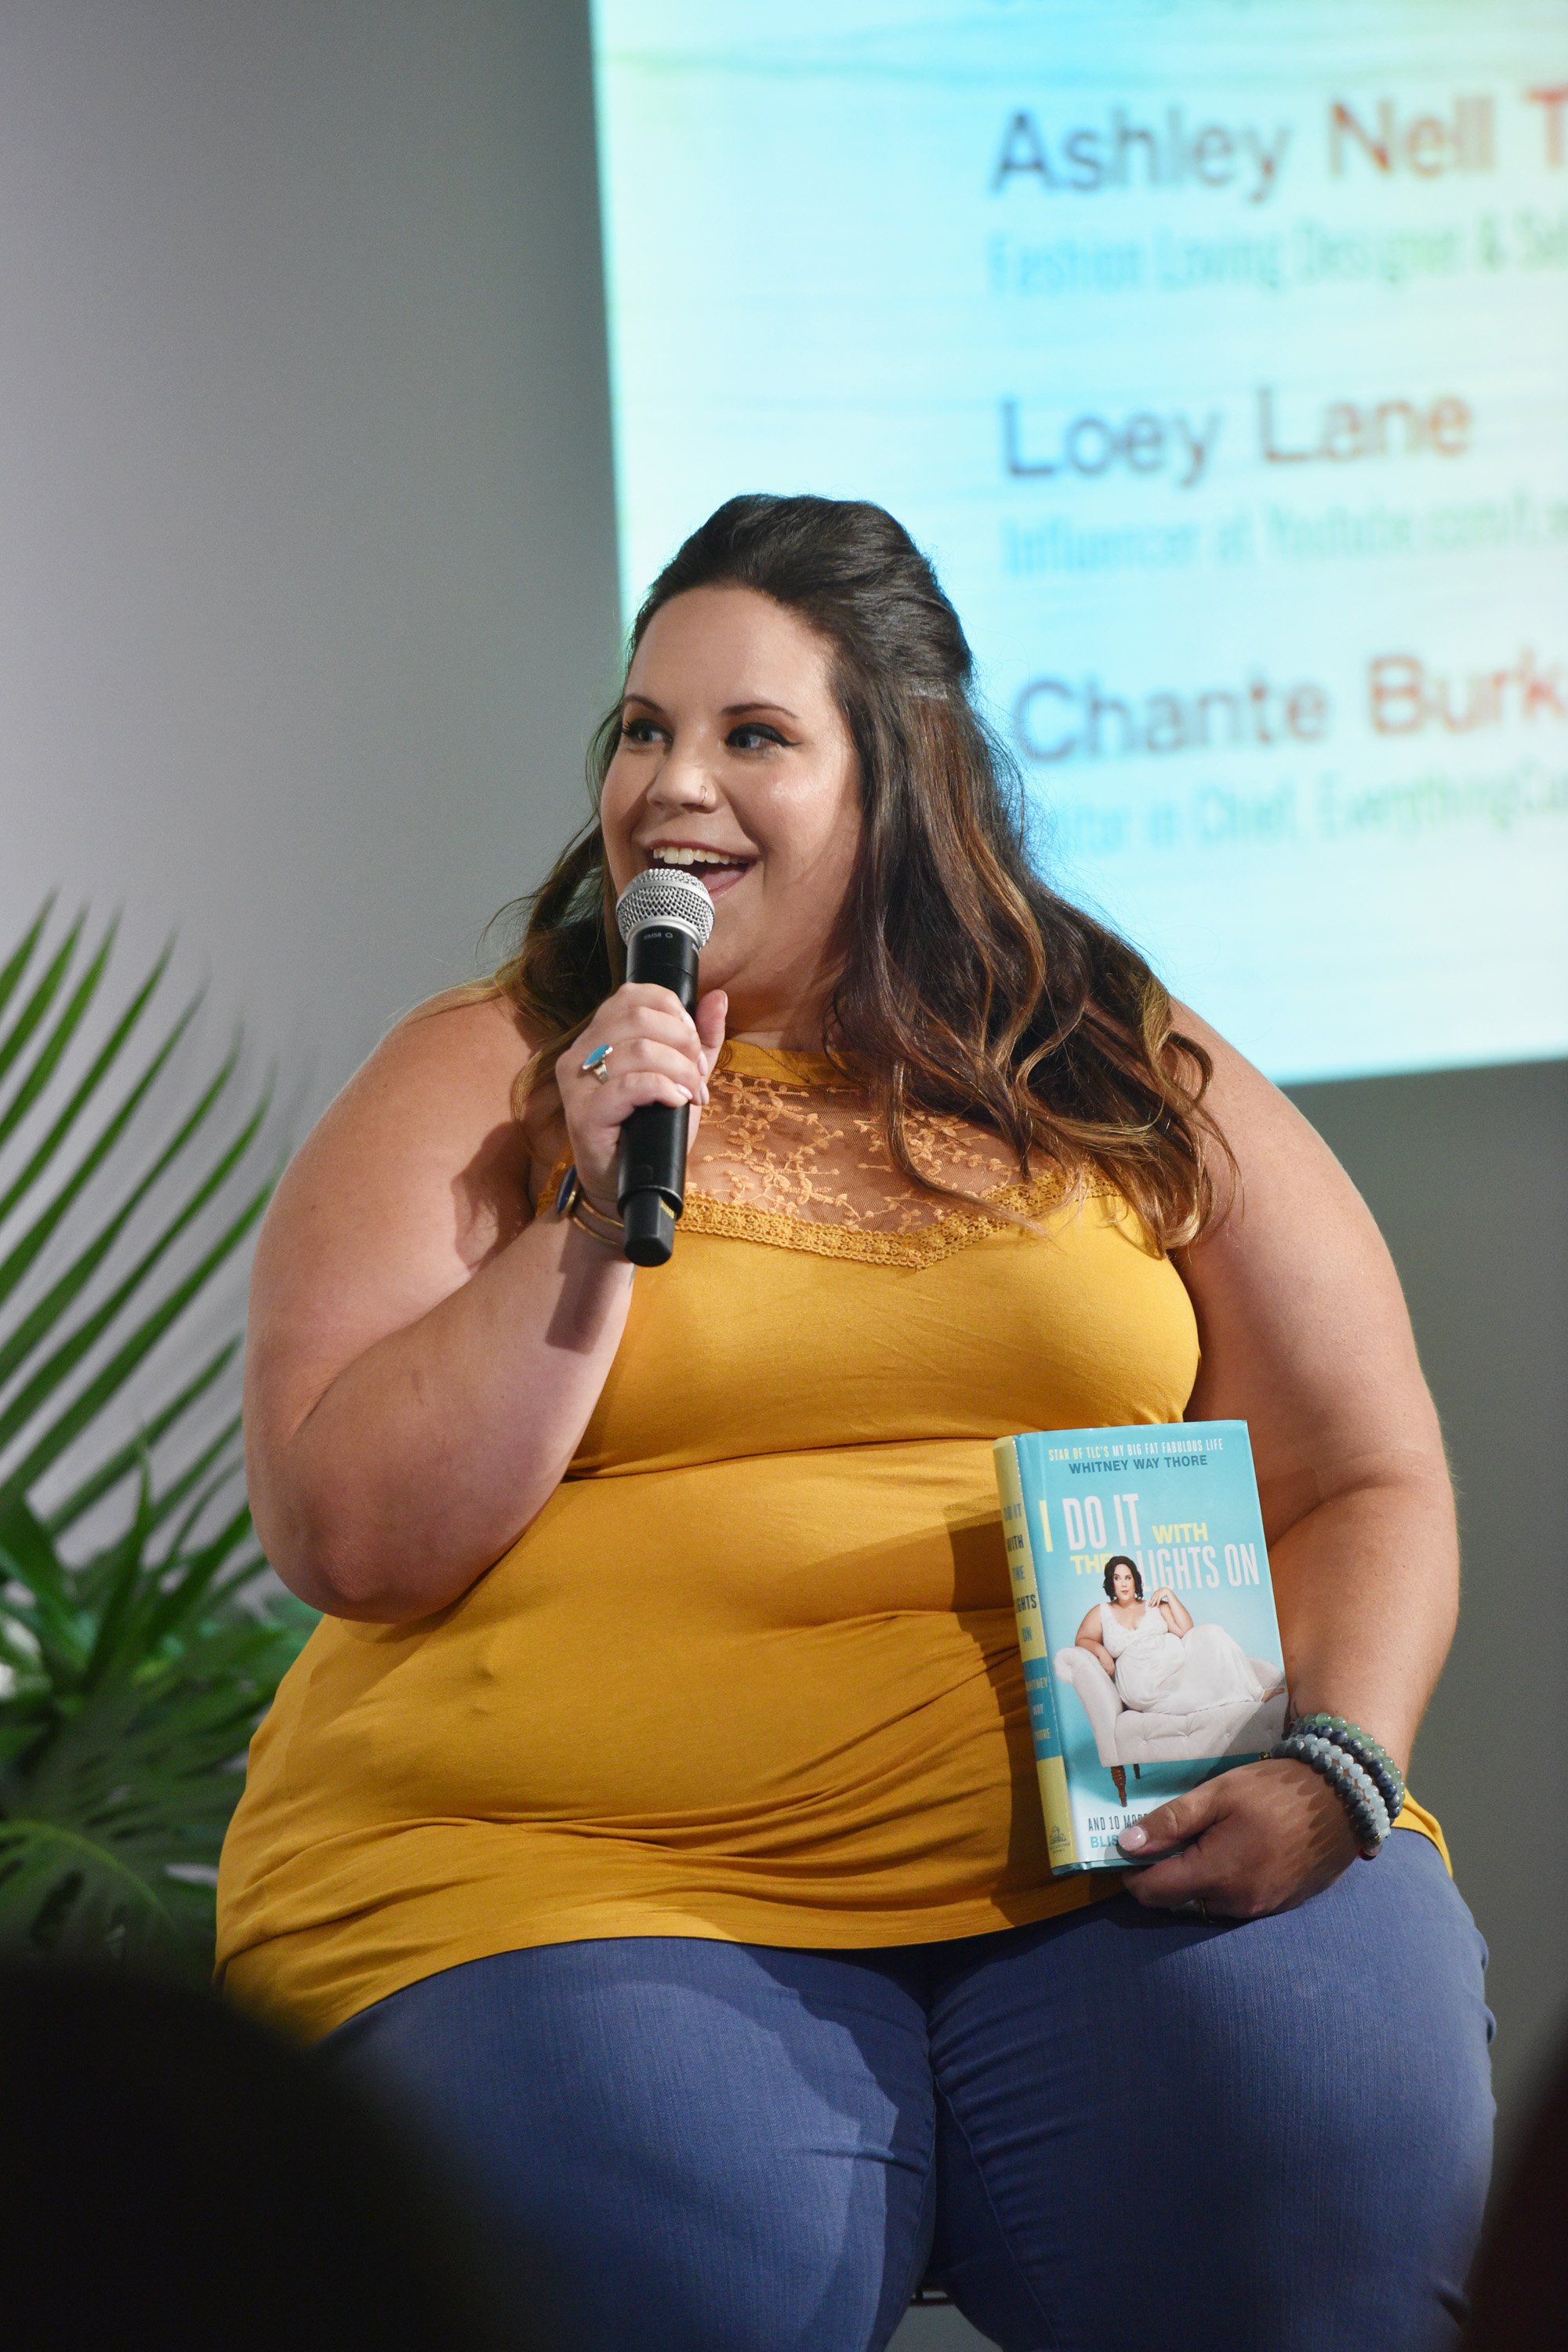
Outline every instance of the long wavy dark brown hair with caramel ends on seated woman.
<svg viewBox="0 0 1568 2352">
<path fill-rule="evenodd" d="M 1143 957 L 1034 873 L 1018 769 L 971 701 L 959 616 L 910 534 L 860 499 L 729 499 L 649 588 L 649 621 L 691 588 L 755 588 L 832 644 L 832 684 L 860 760 L 863 837 L 835 938 L 832 1061 L 875 1103 L 893 1164 L 907 1112 L 959 1112 L 1006 1136 L 1020 1174 L 1041 1157 L 1103 1174 L 1154 1240 L 1194 1240 L 1213 1214 L 1204 1049 L 1171 1018 Z M 599 790 L 621 703 L 599 722 Z M 496 988 L 522 1014 L 531 1087 L 625 976 L 597 814 L 520 901 Z"/>
</svg>

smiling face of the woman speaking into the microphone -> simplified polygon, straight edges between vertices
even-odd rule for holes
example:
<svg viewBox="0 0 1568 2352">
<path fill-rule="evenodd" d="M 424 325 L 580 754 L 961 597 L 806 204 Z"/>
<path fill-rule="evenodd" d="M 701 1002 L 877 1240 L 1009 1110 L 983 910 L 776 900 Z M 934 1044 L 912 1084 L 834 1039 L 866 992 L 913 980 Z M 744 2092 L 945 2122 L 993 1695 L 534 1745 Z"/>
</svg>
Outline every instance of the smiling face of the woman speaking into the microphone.
<svg viewBox="0 0 1568 2352">
<path fill-rule="evenodd" d="M 625 682 L 599 823 L 616 894 L 644 866 L 682 866 L 708 887 L 701 985 L 729 990 L 731 1035 L 820 1044 L 860 847 L 827 640 L 755 588 L 663 604 Z"/>
</svg>

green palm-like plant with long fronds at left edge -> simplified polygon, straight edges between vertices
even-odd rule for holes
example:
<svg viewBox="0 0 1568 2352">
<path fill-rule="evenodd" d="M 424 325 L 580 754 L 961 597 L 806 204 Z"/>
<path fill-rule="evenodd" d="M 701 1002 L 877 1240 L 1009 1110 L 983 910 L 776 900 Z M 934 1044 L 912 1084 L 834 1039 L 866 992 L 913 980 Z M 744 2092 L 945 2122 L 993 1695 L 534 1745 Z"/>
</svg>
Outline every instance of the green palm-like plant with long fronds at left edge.
<svg viewBox="0 0 1568 2352">
<path fill-rule="evenodd" d="M 268 1101 L 226 1131 L 237 1042 L 179 1084 L 195 1004 L 141 1044 L 167 950 L 106 1007 L 113 924 L 49 934 L 0 969 L 0 1950 L 205 1976 L 244 1745 L 315 1616 L 252 1536 L 237 1334 L 106 1428 L 266 1207 Z"/>
</svg>

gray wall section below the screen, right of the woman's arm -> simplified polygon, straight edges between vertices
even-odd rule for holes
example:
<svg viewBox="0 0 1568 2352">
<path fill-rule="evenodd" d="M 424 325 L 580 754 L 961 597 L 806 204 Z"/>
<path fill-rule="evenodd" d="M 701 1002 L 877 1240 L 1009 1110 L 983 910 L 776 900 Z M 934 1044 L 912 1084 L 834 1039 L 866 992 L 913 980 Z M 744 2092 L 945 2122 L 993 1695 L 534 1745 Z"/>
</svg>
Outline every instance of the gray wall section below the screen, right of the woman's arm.
<svg viewBox="0 0 1568 2352">
<path fill-rule="evenodd" d="M 1389 1240 L 1460 1489 L 1413 1783 L 1490 1943 L 1507 2143 L 1568 2027 L 1568 1063 L 1293 1091 Z"/>
</svg>

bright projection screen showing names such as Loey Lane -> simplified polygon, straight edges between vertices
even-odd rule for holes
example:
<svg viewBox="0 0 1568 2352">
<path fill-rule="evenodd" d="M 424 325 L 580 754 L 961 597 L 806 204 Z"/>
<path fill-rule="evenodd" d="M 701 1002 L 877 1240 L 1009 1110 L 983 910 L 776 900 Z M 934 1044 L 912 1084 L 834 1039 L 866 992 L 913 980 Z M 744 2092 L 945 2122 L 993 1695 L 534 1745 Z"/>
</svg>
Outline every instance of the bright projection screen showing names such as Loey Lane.
<svg viewBox="0 0 1568 2352">
<path fill-rule="evenodd" d="M 628 616 L 933 557 L 1041 870 L 1274 1077 L 1568 1051 L 1561 0 L 597 0 Z"/>
</svg>

